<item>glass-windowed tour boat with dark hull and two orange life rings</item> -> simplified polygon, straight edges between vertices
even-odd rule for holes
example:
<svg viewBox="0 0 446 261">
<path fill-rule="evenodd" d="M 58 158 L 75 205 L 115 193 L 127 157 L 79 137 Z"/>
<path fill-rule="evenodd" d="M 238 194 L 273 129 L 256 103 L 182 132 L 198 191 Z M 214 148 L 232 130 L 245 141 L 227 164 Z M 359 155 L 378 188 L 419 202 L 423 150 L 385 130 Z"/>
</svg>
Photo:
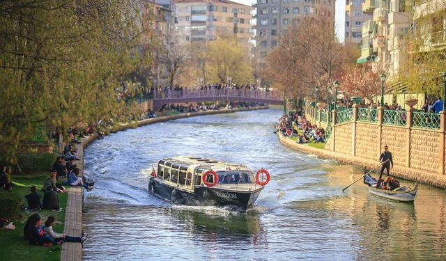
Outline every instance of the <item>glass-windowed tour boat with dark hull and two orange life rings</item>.
<svg viewBox="0 0 446 261">
<path fill-rule="evenodd" d="M 236 205 L 247 209 L 269 181 L 270 173 L 263 168 L 254 175 L 241 164 L 178 156 L 158 161 L 148 191 L 176 204 Z"/>
</svg>

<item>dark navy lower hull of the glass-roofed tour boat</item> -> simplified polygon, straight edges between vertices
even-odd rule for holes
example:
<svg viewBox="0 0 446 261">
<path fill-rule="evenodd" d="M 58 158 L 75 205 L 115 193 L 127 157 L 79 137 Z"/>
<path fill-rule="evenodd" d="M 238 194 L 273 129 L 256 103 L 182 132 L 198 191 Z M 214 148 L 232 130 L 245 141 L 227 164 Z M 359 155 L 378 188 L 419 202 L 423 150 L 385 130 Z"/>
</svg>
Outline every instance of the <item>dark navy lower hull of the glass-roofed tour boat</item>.
<svg viewBox="0 0 446 261">
<path fill-rule="evenodd" d="M 169 186 L 154 177 L 148 182 L 148 191 L 182 205 L 236 205 L 247 209 L 252 207 L 263 187 L 253 191 L 232 191 L 217 187 L 195 187 L 186 191 Z"/>
</svg>

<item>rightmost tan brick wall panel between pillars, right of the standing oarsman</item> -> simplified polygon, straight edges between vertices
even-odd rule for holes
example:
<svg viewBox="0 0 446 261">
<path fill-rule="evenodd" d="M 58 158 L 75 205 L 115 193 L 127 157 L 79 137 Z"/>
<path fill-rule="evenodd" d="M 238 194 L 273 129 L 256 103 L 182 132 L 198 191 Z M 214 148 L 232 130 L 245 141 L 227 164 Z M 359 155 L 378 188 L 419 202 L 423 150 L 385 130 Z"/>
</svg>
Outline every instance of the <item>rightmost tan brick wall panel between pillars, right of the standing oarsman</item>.
<svg viewBox="0 0 446 261">
<path fill-rule="evenodd" d="M 410 130 L 410 167 L 438 173 L 440 135 L 421 129 Z"/>
</svg>

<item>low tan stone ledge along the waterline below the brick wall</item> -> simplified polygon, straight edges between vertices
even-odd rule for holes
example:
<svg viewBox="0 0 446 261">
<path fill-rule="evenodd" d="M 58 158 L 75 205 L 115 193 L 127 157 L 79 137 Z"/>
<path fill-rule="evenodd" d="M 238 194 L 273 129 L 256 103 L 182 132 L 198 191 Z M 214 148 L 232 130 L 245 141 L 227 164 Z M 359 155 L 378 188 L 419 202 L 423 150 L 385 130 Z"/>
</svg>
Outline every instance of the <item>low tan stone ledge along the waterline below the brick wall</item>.
<svg viewBox="0 0 446 261">
<path fill-rule="evenodd" d="M 367 167 L 369 169 L 375 168 L 380 164 L 378 160 L 364 159 L 360 157 L 350 156 L 340 154 L 338 152 L 332 152 L 330 150 L 313 148 L 307 145 L 295 143 L 295 141 L 286 138 L 280 132 L 277 132 L 277 137 L 279 142 L 286 145 L 293 150 L 298 150 L 299 152 L 304 152 L 306 154 L 316 155 L 322 159 L 334 159 L 339 161 L 341 164 L 355 165 L 360 168 Z M 390 170 L 391 174 L 396 177 L 402 177 L 406 180 L 412 180 L 414 182 L 420 182 L 425 184 L 430 184 L 435 187 L 440 187 L 446 189 L 446 176 L 440 176 L 426 171 L 420 171 L 413 168 L 406 168 L 403 166 L 394 165 L 394 168 Z"/>
</svg>

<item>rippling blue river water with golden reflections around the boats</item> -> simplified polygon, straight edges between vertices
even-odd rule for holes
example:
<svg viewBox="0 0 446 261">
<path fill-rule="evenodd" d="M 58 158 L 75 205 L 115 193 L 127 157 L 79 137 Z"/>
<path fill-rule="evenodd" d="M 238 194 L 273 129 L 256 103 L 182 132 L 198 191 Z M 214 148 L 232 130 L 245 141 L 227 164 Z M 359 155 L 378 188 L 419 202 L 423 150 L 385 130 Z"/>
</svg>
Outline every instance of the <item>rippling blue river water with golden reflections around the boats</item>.
<svg viewBox="0 0 446 261">
<path fill-rule="evenodd" d="M 95 141 L 85 172 L 85 260 L 446 260 L 446 194 L 421 185 L 415 204 L 369 196 L 360 168 L 280 145 L 269 109 L 129 129 Z M 246 213 L 171 205 L 147 192 L 151 163 L 205 156 L 268 169 Z M 413 183 L 403 181 L 413 186 Z"/>
</svg>

